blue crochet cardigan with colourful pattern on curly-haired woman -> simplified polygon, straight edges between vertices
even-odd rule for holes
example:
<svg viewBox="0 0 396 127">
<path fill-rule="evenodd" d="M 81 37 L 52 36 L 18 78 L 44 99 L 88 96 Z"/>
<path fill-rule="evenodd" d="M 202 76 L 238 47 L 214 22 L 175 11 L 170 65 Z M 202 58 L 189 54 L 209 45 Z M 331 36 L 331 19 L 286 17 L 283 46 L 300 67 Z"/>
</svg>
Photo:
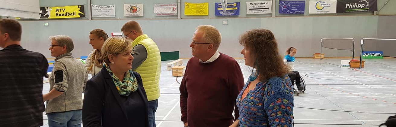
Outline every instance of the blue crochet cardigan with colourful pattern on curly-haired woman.
<svg viewBox="0 0 396 127">
<path fill-rule="evenodd" d="M 259 82 L 242 99 L 244 88 L 236 99 L 239 110 L 239 127 L 291 127 L 293 121 L 293 86 L 287 75 L 272 77 L 267 83 Z M 265 109 L 265 110 L 264 110 Z M 264 112 L 267 112 L 270 126 Z"/>
</svg>

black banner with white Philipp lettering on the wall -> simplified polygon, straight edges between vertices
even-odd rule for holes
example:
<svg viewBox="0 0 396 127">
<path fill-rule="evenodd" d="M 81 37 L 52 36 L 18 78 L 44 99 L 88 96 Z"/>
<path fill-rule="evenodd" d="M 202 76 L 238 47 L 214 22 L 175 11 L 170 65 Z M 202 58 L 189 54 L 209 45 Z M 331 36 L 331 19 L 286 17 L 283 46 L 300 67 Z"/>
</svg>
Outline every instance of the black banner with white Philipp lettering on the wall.
<svg viewBox="0 0 396 127">
<path fill-rule="evenodd" d="M 337 0 L 337 13 L 377 11 L 377 0 Z"/>
</svg>

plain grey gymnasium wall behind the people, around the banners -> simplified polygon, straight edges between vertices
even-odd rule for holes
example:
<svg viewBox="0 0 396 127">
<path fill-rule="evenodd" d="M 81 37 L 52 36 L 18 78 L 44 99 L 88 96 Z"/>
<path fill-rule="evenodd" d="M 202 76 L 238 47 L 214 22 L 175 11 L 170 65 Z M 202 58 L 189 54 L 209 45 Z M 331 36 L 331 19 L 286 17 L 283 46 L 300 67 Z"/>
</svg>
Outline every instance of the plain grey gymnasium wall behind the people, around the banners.
<svg viewBox="0 0 396 127">
<path fill-rule="evenodd" d="M 186 0 L 181 0 L 183 3 Z M 72 51 L 74 56 L 86 56 L 92 50 L 89 45 L 89 31 L 94 28 L 102 28 L 108 34 L 120 32 L 121 26 L 128 20 L 134 19 L 141 23 L 143 31 L 156 41 L 161 52 L 180 51 L 181 58 L 190 58 L 191 50 L 188 45 L 196 26 L 210 24 L 216 26 L 221 34 L 223 41 L 219 49 L 220 52 L 232 57 L 242 57 L 240 50 L 242 46 L 238 43 L 238 37 L 243 32 L 253 28 L 268 28 L 272 30 L 279 43 L 279 49 L 283 53 L 289 46 L 297 47 L 297 57 L 312 57 L 315 52 L 320 52 L 320 38 L 350 38 L 356 39 L 355 55 L 359 56 L 360 38 L 379 37 L 378 33 L 389 33 L 391 37 L 395 29 L 389 30 L 387 26 L 394 26 L 396 16 L 374 16 L 372 13 L 350 13 L 348 15 L 308 15 L 306 4 L 306 14 L 300 17 L 291 15 L 255 15 L 246 16 L 246 1 L 241 2 L 241 12 L 238 17 L 215 17 L 213 14 L 213 2 L 218 0 L 208 0 L 209 15 L 182 16 L 177 17 L 155 17 L 152 13 L 153 3 L 172 3 L 177 0 L 165 0 L 158 2 L 146 2 L 138 0 L 133 3 L 143 3 L 144 17 L 129 18 L 123 15 L 123 4 L 131 3 L 127 0 L 110 2 L 107 0 L 91 0 L 92 4 L 109 5 L 116 4 L 116 18 L 93 17 L 80 19 L 55 19 L 55 20 L 20 20 L 23 25 L 22 45 L 26 49 L 41 52 L 46 57 L 51 58 L 49 53 L 49 35 L 65 34 L 73 38 L 75 48 Z M 254 0 L 253 0 L 254 1 Z M 307 2 L 309 0 L 306 0 Z M 188 2 L 202 2 L 200 0 L 188 0 Z M 228 0 L 228 2 L 237 2 Z M 277 3 L 278 0 L 276 0 Z M 379 9 L 385 4 L 386 0 L 379 0 Z M 85 4 L 85 11 L 88 12 L 88 2 L 84 0 L 40 0 L 40 6 L 70 6 Z M 383 15 L 396 15 L 396 0 L 390 0 L 378 12 Z M 181 13 L 184 14 L 184 6 Z M 276 9 L 277 10 L 277 9 Z M 365 14 L 365 15 L 362 15 Z M 337 16 L 336 16 L 337 15 Z M 165 18 L 165 19 L 164 19 Z M 390 20 L 393 19 L 393 20 Z M 223 20 L 228 20 L 228 24 L 222 24 Z M 44 26 L 44 22 L 49 22 L 49 26 Z M 393 36 L 392 38 L 394 38 Z M 323 49 L 326 56 L 351 56 L 350 51 Z"/>
</svg>

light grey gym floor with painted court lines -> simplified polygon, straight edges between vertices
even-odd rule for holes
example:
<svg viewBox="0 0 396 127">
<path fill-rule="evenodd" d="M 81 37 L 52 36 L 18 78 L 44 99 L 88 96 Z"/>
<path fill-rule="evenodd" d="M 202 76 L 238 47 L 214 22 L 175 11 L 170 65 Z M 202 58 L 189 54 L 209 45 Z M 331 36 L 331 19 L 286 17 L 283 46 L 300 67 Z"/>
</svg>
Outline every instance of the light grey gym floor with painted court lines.
<svg viewBox="0 0 396 127">
<path fill-rule="evenodd" d="M 251 68 L 236 59 L 245 81 Z M 295 127 L 378 127 L 396 114 L 396 59 L 364 59 L 363 69 L 341 68 L 350 58 L 296 58 L 295 69 L 307 90 L 294 96 Z M 183 66 L 188 59 L 183 60 Z M 183 127 L 180 121 L 179 84 L 162 61 L 161 97 L 156 112 L 157 127 Z M 90 77 L 89 77 L 90 78 Z M 44 79 L 46 80 L 46 79 Z M 181 77 L 177 80 L 180 82 Z M 43 93 L 48 93 L 49 83 Z M 48 127 L 43 113 L 44 127 Z"/>
</svg>

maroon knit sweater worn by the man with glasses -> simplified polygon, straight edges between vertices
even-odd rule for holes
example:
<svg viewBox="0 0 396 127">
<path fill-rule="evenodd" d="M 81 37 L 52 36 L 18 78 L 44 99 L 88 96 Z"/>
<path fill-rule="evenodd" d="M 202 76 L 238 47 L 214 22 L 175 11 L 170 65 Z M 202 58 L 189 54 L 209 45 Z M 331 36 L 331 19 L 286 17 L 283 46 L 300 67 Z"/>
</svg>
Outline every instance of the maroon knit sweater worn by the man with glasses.
<svg viewBox="0 0 396 127">
<path fill-rule="evenodd" d="M 234 58 L 220 53 L 215 61 L 200 63 L 192 57 L 180 85 L 181 120 L 190 127 L 228 127 L 239 117 L 235 101 L 243 86 Z"/>
</svg>

